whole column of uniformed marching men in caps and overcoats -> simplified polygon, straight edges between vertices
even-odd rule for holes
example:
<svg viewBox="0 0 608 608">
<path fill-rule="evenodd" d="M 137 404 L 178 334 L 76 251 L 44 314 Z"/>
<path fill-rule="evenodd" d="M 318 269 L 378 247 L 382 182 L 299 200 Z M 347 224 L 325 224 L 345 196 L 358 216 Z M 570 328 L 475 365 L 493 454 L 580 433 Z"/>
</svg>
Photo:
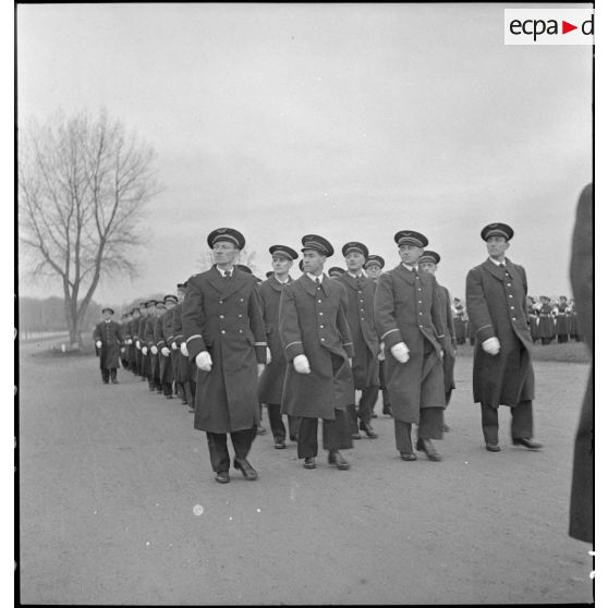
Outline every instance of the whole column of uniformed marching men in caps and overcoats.
<svg viewBox="0 0 608 608">
<path fill-rule="evenodd" d="M 257 478 L 248 453 L 259 434 L 262 404 L 276 449 L 285 449 L 289 436 L 303 466 L 316 469 L 320 419 L 328 464 L 350 469 L 342 450 L 362 437 L 378 437 L 372 421 L 380 392 L 400 458 L 415 461 L 417 451 L 437 462 L 442 457 L 435 441 L 449 430 L 445 409 L 455 388 L 457 344 L 469 337 L 475 343 L 473 400 L 481 404 L 486 449 L 501 449 L 498 406 L 506 405 L 513 445 L 537 450 L 533 333 L 540 331 L 542 315 L 551 314 L 559 324 L 559 315 L 566 318 L 572 308 L 560 301 L 557 313 L 536 311 L 525 270 L 506 257 L 512 238 L 504 223 L 482 230 L 489 256 L 466 277 L 465 307 L 458 299 L 452 304 L 437 282 L 440 255 L 413 230 L 394 234 L 400 262 L 388 271 L 380 256 L 356 241 L 341 248 L 346 269 L 326 271 L 333 246 L 306 234 L 301 276 L 294 279 L 300 254 L 273 245 L 272 270 L 264 282 L 236 264 L 243 234 L 214 230 L 207 238 L 214 266 L 179 283 L 177 295 L 141 302 L 120 324 L 104 308 L 94 331 L 102 381 L 118 382 L 120 357 L 125 369 L 147 380 L 149 391 L 177 396 L 194 413 L 194 427 L 206 433 L 219 483 L 230 481 L 231 464 L 246 479 Z"/>
</svg>

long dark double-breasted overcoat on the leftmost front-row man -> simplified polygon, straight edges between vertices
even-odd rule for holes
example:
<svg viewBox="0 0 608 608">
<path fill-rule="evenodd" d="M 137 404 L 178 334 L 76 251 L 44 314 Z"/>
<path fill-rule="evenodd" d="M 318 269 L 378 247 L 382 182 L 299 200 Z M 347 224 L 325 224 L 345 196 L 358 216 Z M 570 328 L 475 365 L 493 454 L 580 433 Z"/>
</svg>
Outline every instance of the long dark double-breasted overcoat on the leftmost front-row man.
<svg viewBox="0 0 608 608">
<path fill-rule="evenodd" d="M 259 424 L 257 364 L 266 363 L 266 330 L 253 275 L 234 268 L 226 280 L 214 267 L 189 279 L 182 308 L 189 356 L 208 351 L 198 369 L 194 428 L 245 430 Z"/>
</svg>

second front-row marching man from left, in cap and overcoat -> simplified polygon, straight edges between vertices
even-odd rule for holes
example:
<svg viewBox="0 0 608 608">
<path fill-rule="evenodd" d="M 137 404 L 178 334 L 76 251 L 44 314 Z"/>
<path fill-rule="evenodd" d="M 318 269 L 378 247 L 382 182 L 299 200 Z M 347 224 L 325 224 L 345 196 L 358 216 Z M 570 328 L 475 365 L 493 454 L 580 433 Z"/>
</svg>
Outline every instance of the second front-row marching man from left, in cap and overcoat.
<svg viewBox="0 0 608 608">
<path fill-rule="evenodd" d="M 318 234 L 302 239 L 304 273 L 284 285 L 279 305 L 279 332 L 288 368 L 282 412 L 301 416 L 297 458 L 315 469 L 318 418 L 328 462 L 350 467 L 340 453 L 352 447 L 346 406 L 354 403 L 351 362 L 354 348 L 346 320 L 344 285 L 324 273 L 331 244 Z"/>
</svg>

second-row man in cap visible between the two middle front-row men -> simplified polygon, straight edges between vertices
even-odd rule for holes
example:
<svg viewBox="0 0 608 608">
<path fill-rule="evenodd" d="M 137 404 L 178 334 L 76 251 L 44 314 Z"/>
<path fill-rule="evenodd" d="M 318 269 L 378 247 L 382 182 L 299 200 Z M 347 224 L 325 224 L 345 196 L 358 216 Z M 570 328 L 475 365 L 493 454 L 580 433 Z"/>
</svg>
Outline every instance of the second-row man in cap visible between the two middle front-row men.
<svg viewBox="0 0 608 608">
<path fill-rule="evenodd" d="M 358 429 L 375 439 L 377 433 L 372 427 L 372 411 L 380 389 L 379 361 L 380 342 L 374 327 L 374 295 L 376 283 L 363 273 L 363 265 L 369 255 L 367 247 L 351 241 L 342 247 L 346 271 L 337 281 L 346 289 L 349 299 L 346 320 L 351 329 L 354 346 L 353 381 L 355 390 L 361 390 L 358 409 L 349 405 L 349 418 L 353 439 L 360 439 Z M 361 421 L 357 427 L 357 417 Z"/>
</svg>

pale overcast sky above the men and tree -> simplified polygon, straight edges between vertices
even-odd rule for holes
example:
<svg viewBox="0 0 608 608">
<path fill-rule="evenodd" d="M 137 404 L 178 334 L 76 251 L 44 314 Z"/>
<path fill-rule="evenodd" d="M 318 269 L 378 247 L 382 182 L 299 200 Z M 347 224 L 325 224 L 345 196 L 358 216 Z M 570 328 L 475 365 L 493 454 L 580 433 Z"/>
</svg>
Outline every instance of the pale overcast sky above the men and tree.
<svg viewBox="0 0 608 608">
<path fill-rule="evenodd" d="M 245 234 L 262 277 L 270 245 L 309 232 L 335 245 L 330 266 L 357 240 L 392 267 L 394 232 L 417 230 L 463 296 L 491 221 L 513 227 L 530 293 L 570 294 L 592 47 L 504 46 L 504 7 L 20 5 L 20 122 L 105 107 L 158 154 L 141 277 L 95 300 L 174 291 L 220 226 Z"/>
</svg>

